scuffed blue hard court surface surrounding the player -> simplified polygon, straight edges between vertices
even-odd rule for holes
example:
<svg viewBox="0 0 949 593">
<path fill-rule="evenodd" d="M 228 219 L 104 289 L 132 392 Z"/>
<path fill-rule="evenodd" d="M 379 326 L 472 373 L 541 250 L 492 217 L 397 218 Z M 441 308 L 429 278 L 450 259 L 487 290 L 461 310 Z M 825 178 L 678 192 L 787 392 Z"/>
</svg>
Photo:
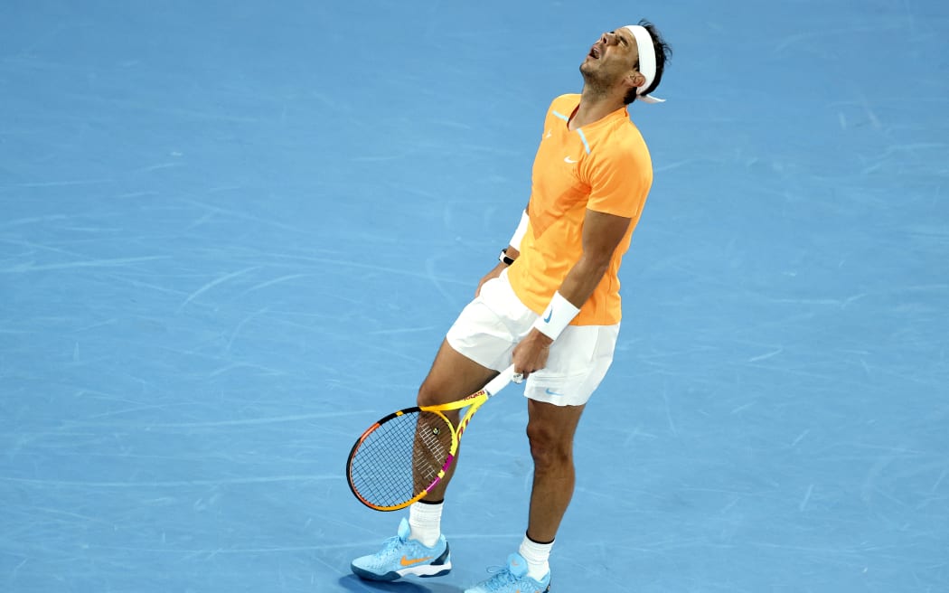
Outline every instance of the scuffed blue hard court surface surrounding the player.
<svg viewBox="0 0 949 593">
<path fill-rule="evenodd" d="M 949 591 L 949 3 L 9 0 L 0 591 L 457 593 L 526 527 L 511 386 L 455 570 L 344 462 L 414 403 L 602 31 L 675 54 L 551 593 Z"/>
</svg>

